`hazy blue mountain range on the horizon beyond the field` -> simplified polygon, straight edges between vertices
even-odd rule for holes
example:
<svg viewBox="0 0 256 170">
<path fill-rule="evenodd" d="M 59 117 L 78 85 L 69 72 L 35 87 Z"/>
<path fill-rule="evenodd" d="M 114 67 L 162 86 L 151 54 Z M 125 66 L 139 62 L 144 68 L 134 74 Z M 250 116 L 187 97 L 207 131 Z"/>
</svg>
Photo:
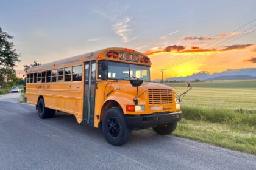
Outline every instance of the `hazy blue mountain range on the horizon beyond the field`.
<svg viewBox="0 0 256 170">
<path fill-rule="evenodd" d="M 213 73 L 213 74 L 210 74 L 207 72 L 200 72 L 200 73 L 194 73 L 193 75 L 190 75 L 187 77 L 166 78 L 165 81 L 193 81 L 196 79 L 208 80 L 210 78 L 221 77 L 221 76 L 241 76 L 242 79 L 246 79 L 246 78 L 243 78 L 244 76 L 256 77 L 256 68 L 237 69 L 237 70 L 229 69 L 221 73 Z M 233 80 L 233 78 L 230 77 L 230 79 L 226 79 L 226 80 Z M 158 79 L 155 81 L 161 81 L 161 80 Z"/>
</svg>

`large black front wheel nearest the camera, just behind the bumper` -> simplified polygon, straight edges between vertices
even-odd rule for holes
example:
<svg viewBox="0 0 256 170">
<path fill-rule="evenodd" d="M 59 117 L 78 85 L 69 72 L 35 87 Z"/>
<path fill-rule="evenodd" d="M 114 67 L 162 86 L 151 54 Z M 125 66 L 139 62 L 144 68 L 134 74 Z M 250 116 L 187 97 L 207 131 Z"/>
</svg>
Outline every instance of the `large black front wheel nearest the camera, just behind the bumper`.
<svg viewBox="0 0 256 170">
<path fill-rule="evenodd" d="M 123 111 L 120 108 L 107 110 L 102 122 L 102 131 L 108 143 L 121 146 L 129 140 L 131 129 L 127 127 Z"/>
</svg>

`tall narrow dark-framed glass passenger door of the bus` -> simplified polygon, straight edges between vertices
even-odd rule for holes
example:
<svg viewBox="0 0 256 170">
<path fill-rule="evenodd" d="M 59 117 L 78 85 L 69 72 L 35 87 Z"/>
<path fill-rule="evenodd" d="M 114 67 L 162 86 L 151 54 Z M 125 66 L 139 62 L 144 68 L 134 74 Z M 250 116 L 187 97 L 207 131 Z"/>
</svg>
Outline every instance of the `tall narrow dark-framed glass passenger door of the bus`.
<svg viewBox="0 0 256 170">
<path fill-rule="evenodd" d="M 94 126 L 96 61 L 85 62 L 84 75 L 84 123 Z"/>
</svg>

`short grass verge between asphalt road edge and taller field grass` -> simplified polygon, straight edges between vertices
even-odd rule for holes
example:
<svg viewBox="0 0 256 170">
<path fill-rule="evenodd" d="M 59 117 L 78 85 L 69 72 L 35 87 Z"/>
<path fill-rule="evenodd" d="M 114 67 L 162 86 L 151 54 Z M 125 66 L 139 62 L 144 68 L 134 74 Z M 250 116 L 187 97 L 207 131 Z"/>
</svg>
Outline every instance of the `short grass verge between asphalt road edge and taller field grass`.
<svg viewBox="0 0 256 170">
<path fill-rule="evenodd" d="M 256 155 L 256 129 L 248 124 L 210 123 L 183 118 L 173 134 Z"/>
</svg>

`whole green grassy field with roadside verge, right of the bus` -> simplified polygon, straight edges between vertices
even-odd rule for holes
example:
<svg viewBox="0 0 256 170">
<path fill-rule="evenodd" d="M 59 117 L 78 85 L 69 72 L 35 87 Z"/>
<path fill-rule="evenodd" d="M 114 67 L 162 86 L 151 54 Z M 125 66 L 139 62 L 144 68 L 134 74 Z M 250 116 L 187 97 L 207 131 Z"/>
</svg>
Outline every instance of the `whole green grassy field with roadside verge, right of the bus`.
<svg viewBox="0 0 256 170">
<path fill-rule="evenodd" d="M 185 83 L 166 83 L 182 93 Z M 191 83 L 174 135 L 256 155 L 256 80 Z"/>
</svg>

